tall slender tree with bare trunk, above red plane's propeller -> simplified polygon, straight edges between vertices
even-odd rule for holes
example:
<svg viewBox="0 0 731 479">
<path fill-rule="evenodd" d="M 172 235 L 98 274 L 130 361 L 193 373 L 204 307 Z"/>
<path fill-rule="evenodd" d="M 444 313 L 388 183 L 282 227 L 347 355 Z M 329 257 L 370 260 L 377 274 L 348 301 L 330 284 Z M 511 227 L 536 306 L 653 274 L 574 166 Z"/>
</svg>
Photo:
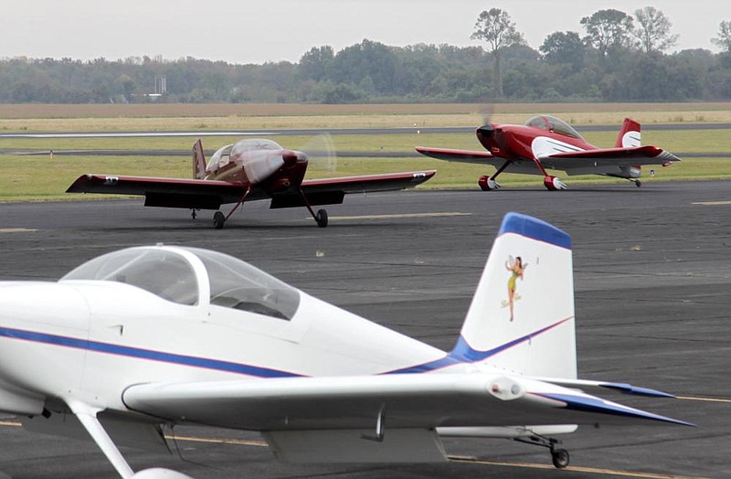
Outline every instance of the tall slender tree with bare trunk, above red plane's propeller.
<svg viewBox="0 0 731 479">
<path fill-rule="evenodd" d="M 500 8 L 483 10 L 474 24 L 471 39 L 484 40 L 493 53 L 493 86 L 498 98 L 503 97 L 503 74 L 500 70 L 500 54 L 503 48 L 523 45 L 523 34 L 515 28 L 514 22 L 507 12 Z"/>
</svg>

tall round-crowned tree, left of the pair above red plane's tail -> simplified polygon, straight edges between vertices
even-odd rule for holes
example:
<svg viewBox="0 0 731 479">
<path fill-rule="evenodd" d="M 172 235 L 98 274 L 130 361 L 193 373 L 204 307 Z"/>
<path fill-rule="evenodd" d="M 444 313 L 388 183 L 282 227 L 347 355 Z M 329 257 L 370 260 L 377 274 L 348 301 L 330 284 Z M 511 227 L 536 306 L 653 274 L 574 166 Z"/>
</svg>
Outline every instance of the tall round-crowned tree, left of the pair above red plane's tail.
<svg viewBox="0 0 731 479">
<path fill-rule="evenodd" d="M 601 64 L 607 59 L 609 50 L 631 44 L 632 17 L 619 10 L 599 10 L 592 16 L 583 17 L 581 25 L 587 31 L 585 41 L 599 51 Z"/>
</svg>

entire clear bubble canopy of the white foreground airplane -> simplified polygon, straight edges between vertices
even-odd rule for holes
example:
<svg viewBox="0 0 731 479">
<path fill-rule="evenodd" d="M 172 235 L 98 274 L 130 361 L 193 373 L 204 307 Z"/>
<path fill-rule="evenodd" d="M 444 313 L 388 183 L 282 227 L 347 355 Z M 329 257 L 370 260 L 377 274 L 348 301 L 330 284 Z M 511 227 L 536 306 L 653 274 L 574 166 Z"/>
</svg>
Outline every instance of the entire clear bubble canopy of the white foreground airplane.
<svg viewBox="0 0 731 479">
<path fill-rule="evenodd" d="M 300 292 L 245 261 L 211 250 L 150 246 L 104 254 L 59 281 L 122 282 L 165 301 L 227 307 L 290 320 Z"/>
</svg>

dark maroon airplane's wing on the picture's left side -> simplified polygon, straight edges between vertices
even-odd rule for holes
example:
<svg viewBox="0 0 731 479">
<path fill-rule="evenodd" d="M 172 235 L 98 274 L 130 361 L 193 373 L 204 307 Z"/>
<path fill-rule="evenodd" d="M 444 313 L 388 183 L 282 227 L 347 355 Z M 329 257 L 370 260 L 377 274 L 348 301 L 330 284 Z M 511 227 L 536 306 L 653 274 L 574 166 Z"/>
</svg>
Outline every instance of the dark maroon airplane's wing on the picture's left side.
<svg viewBox="0 0 731 479">
<path fill-rule="evenodd" d="M 244 186 L 228 181 L 111 175 L 82 175 L 66 190 L 67 193 L 140 195 L 145 197 L 146 207 L 196 209 L 218 209 L 222 204 L 237 202 L 244 191 Z"/>
</svg>

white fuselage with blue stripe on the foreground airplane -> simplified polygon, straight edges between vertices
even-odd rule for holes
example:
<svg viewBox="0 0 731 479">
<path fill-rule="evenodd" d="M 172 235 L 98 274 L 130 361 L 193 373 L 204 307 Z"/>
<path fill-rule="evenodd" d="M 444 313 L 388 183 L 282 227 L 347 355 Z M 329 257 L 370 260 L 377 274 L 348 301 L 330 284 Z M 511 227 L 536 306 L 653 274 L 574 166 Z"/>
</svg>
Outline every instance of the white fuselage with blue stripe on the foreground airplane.
<svg viewBox="0 0 731 479">
<path fill-rule="evenodd" d="M 251 293 L 244 305 L 211 298 L 205 268 L 187 259 L 195 297 L 185 274 L 157 294 L 116 281 L 0 283 L 0 410 L 38 414 L 47 399 L 74 398 L 124 411 L 133 384 L 376 375 L 446 357 L 293 288 L 274 293 L 292 314 L 252 306 L 262 301 Z"/>
</svg>

